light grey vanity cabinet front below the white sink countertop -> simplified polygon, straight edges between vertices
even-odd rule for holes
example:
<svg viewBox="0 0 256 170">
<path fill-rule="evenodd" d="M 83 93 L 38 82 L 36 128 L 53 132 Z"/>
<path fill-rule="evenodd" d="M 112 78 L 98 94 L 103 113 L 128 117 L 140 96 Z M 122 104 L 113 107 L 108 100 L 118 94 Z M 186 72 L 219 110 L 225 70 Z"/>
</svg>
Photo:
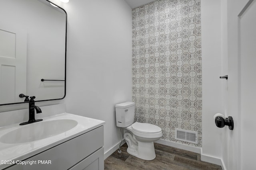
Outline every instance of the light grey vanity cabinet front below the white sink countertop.
<svg viewBox="0 0 256 170">
<path fill-rule="evenodd" d="M 5 170 L 103 170 L 103 136 L 100 126 L 23 160 L 34 161 L 32 165 L 15 164 Z"/>
</svg>

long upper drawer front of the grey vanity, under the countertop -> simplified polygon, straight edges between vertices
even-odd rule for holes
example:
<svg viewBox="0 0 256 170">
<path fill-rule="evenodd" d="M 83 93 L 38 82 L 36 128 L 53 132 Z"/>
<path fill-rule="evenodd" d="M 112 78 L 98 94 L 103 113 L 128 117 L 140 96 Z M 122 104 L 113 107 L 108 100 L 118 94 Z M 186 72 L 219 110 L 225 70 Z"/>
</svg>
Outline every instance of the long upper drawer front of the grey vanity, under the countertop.
<svg viewBox="0 0 256 170">
<path fill-rule="evenodd" d="M 103 136 L 103 126 L 100 126 L 24 160 L 35 162 L 38 162 L 38 160 L 51 160 L 51 164 L 32 164 L 25 166 L 15 164 L 6 168 L 6 170 L 67 170 L 78 162 L 82 162 L 84 158 L 103 147 Z M 103 162 L 104 160 L 102 159 L 101 161 Z"/>
</svg>

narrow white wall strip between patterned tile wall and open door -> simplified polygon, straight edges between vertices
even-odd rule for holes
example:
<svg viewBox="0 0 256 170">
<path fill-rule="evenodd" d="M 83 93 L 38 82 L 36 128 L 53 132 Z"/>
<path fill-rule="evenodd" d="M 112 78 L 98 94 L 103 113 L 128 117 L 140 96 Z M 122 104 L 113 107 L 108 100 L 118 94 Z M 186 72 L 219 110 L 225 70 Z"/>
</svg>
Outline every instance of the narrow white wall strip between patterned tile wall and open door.
<svg viewBox="0 0 256 170">
<path fill-rule="evenodd" d="M 222 113 L 221 0 L 201 0 L 202 24 L 202 160 L 221 164 L 224 128 L 213 116 Z M 226 128 L 226 127 L 225 127 Z M 217 159 L 213 159 L 213 158 Z"/>
</svg>

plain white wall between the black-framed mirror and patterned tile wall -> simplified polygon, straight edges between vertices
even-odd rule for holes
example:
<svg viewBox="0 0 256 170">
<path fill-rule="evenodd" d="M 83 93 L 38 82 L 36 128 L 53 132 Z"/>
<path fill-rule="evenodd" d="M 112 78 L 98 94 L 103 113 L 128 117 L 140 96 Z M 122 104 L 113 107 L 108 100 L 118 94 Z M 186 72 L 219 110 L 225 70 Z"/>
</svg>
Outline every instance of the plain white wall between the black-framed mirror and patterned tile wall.
<svg viewBox="0 0 256 170">
<path fill-rule="evenodd" d="M 68 14 L 67 112 L 106 121 L 106 152 L 121 140 L 115 104 L 132 100 L 131 8 L 124 0 L 53 2 Z"/>
</svg>

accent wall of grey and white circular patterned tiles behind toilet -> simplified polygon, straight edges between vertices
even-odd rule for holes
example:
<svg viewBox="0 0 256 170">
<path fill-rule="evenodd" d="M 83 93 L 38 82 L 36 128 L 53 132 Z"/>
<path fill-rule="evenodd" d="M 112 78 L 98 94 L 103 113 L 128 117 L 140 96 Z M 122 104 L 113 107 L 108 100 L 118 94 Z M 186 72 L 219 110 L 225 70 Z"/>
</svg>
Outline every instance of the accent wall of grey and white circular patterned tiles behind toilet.
<svg viewBox="0 0 256 170">
<path fill-rule="evenodd" d="M 200 0 L 156 0 L 132 10 L 135 121 L 162 128 L 162 139 L 202 147 Z M 175 128 L 198 132 L 198 145 Z"/>
</svg>

